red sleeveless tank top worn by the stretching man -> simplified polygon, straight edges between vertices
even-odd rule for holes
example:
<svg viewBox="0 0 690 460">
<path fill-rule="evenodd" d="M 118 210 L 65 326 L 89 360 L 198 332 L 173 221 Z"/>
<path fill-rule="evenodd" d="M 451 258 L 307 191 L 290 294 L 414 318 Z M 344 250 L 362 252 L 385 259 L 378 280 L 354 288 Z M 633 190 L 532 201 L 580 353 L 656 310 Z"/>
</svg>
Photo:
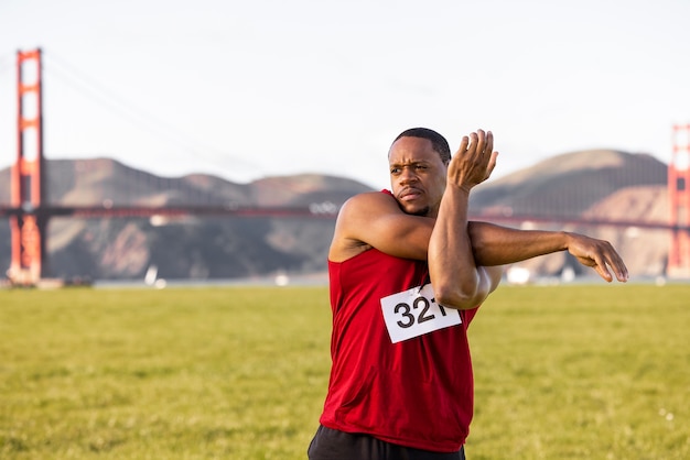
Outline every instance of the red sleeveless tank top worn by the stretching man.
<svg viewBox="0 0 690 460">
<path fill-rule="evenodd" d="M 321 424 L 346 432 L 439 452 L 459 450 L 472 419 L 474 388 L 462 324 L 397 343 L 381 298 L 428 282 L 425 262 L 371 249 L 328 261 L 333 366 Z"/>
</svg>

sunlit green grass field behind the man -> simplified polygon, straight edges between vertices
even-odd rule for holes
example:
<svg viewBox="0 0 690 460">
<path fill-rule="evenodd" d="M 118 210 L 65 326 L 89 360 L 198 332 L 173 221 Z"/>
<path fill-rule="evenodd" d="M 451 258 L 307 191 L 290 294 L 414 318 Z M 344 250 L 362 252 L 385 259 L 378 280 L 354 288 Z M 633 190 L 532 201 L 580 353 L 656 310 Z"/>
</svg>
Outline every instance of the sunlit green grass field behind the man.
<svg viewBox="0 0 690 460">
<path fill-rule="evenodd" d="M 0 458 L 304 459 L 330 317 L 325 287 L 0 291 Z M 468 459 L 690 458 L 690 285 L 502 286 L 471 341 Z"/>
</svg>

